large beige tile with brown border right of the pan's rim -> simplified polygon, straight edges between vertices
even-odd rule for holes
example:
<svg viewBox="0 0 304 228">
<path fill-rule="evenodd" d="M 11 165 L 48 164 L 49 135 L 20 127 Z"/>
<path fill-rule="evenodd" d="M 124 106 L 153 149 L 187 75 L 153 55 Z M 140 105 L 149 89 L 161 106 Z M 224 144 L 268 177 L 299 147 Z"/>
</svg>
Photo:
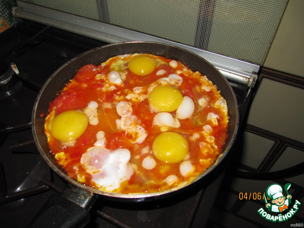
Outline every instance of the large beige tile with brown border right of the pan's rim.
<svg viewBox="0 0 304 228">
<path fill-rule="evenodd" d="M 264 78 L 247 123 L 304 143 L 304 89 Z"/>
</svg>

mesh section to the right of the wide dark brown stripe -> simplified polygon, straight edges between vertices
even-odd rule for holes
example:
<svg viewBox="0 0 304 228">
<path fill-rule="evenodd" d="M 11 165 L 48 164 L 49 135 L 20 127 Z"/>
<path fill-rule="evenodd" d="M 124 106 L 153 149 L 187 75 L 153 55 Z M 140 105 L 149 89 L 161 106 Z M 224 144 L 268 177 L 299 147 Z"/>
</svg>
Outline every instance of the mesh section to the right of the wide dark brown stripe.
<svg viewBox="0 0 304 228">
<path fill-rule="evenodd" d="M 263 63 L 286 1 L 217 1 L 208 50 Z"/>
</svg>

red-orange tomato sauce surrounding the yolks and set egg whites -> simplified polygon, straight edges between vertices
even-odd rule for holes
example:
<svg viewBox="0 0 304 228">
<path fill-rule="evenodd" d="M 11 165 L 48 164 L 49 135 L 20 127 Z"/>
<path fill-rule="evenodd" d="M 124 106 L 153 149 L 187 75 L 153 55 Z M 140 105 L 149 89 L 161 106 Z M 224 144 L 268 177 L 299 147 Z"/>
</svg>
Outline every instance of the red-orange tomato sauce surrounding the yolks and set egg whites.
<svg viewBox="0 0 304 228">
<path fill-rule="evenodd" d="M 147 76 L 137 76 L 128 69 L 128 61 L 131 57 L 132 55 L 114 57 L 100 65 L 89 64 L 81 67 L 74 78 L 50 102 L 50 114 L 45 123 L 50 151 L 68 176 L 92 188 L 101 189 L 102 186 L 92 181 L 92 174 L 86 171 L 80 161 L 82 155 L 90 147 L 94 147 L 97 132 L 103 131 L 106 140 L 105 148 L 110 151 L 119 148 L 128 149 L 131 153 L 128 164 L 131 164 L 134 169 L 134 173 L 128 180 L 123 181 L 119 188 L 110 192 L 123 194 L 157 192 L 176 187 L 185 181 L 190 182 L 209 168 L 221 153 L 227 137 L 226 101 L 206 76 L 193 72 L 182 63 L 178 62 L 178 67 L 173 68 L 170 66 L 171 60 L 153 56 L 159 60 L 156 69 Z M 119 59 L 123 60 L 120 65 L 117 64 Z M 122 78 L 121 84 L 109 81 L 108 74 L 113 70 L 119 72 Z M 165 70 L 167 73 L 157 75 L 159 70 Z M 151 111 L 147 95 L 152 85 L 161 86 L 158 80 L 167 78 L 170 74 L 178 74 L 183 79 L 182 83 L 175 87 L 182 92 L 183 96 L 192 98 L 195 103 L 195 111 L 190 118 L 179 119 L 179 127 L 166 128 L 167 131 L 180 133 L 189 143 L 188 156 L 184 160 L 191 161 L 194 170 L 186 176 L 180 172 L 180 163 L 170 164 L 158 161 L 151 152 L 154 138 L 163 132 L 163 129 L 153 123 L 156 113 Z M 141 91 L 136 93 L 134 88 L 137 87 L 141 88 Z M 205 98 L 207 105 L 200 105 L 200 98 Z M 224 105 L 217 103 L 220 99 L 222 103 L 224 101 Z M 68 110 L 83 110 L 91 101 L 98 103 L 98 124 L 88 124 L 87 130 L 72 146 L 56 140 L 50 133 L 52 118 Z M 134 135 L 117 126 L 117 119 L 121 118 L 116 111 L 116 104 L 119 101 L 132 103 L 132 115 L 139 118 L 140 126 L 147 132 L 142 143 L 133 143 Z M 209 113 L 216 117 L 208 119 Z M 175 116 L 175 111 L 171 114 Z M 207 125 L 211 126 L 212 130 L 204 130 L 204 126 Z M 147 156 L 154 157 L 156 161 L 156 166 L 151 170 L 143 168 L 142 165 L 143 159 Z M 164 181 L 169 175 L 176 176 L 177 181 L 169 184 Z"/>
</svg>

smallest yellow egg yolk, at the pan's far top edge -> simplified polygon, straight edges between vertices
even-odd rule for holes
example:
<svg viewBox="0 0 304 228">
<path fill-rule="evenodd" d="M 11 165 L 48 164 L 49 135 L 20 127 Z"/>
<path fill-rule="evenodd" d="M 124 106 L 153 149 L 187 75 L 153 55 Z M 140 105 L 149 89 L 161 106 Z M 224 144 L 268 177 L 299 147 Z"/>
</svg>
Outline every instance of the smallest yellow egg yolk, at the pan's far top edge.
<svg viewBox="0 0 304 228">
<path fill-rule="evenodd" d="M 138 55 L 130 59 L 128 67 L 133 74 L 146 76 L 155 70 L 156 60 L 146 55 Z"/>
</svg>

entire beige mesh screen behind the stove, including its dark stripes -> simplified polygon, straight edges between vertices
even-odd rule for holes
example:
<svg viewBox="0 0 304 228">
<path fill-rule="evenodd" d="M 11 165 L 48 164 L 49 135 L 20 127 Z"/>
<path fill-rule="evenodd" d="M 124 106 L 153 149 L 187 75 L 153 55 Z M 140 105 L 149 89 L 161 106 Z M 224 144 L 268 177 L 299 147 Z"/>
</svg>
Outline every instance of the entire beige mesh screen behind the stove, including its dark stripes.
<svg viewBox="0 0 304 228">
<path fill-rule="evenodd" d="M 288 0 L 22 0 L 261 65 Z"/>
</svg>

